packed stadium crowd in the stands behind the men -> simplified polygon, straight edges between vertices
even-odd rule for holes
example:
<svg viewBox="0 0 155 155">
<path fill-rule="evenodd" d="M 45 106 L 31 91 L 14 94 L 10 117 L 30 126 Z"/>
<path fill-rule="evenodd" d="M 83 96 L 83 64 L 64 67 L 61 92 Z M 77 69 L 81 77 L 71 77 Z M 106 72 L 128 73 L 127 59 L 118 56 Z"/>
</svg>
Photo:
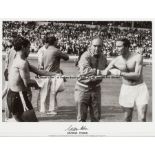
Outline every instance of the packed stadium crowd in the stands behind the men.
<svg viewBox="0 0 155 155">
<path fill-rule="evenodd" d="M 17 35 L 28 38 L 31 42 L 31 52 L 37 53 L 43 46 L 45 36 L 54 35 L 58 38 L 58 47 L 62 52 L 70 55 L 80 55 L 87 50 L 93 36 L 99 35 L 104 41 L 104 54 L 117 56 L 115 41 L 118 38 L 128 38 L 131 50 L 143 48 L 146 58 L 152 57 L 152 30 L 142 28 L 114 26 L 110 22 L 106 25 L 88 25 L 68 22 L 37 22 L 5 21 L 3 22 L 3 51 L 11 46 L 11 40 Z M 125 23 L 125 22 L 124 22 Z"/>
</svg>

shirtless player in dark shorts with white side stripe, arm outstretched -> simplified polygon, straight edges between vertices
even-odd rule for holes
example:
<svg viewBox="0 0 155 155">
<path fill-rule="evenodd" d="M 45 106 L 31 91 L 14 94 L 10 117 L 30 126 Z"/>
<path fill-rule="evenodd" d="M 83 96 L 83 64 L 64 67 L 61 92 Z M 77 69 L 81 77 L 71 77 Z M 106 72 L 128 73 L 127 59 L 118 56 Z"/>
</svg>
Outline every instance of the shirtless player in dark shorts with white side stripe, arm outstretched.
<svg viewBox="0 0 155 155">
<path fill-rule="evenodd" d="M 7 103 L 9 111 L 13 114 L 16 121 L 24 122 L 22 119 L 22 114 L 24 112 L 22 98 L 25 100 L 26 108 L 29 110 L 33 109 L 28 99 L 27 92 L 29 87 L 37 86 L 35 80 L 30 79 L 30 72 L 42 76 L 52 76 L 55 75 L 55 73 L 38 70 L 28 63 L 27 57 L 30 49 L 29 40 L 23 37 L 16 38 L 14 40 L 14 49 L 16 51 L 16 57 L 13 60 L 9 73 Z"/>
</svg>

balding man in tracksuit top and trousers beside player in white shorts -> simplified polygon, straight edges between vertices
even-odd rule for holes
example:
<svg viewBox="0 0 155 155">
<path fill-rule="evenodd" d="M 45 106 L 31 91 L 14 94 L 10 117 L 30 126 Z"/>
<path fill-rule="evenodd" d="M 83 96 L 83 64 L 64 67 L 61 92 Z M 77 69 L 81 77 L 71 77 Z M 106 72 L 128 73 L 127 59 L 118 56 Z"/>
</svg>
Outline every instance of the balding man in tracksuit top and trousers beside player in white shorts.
<svg viewBox="0 0 155 155">
<path fill-rule="evenodd" d="M 91 47 L 82 54 L 78 67 L 81 76 L 100 75 L 107 66 L 106 57 L 102 52 L 103 41 L 95 37 Z M 77 121 L 86 122 L 89 110 L 91 122 L 98 122 L 101 117 L 102 79 L 79 79 L 75 86 L 75 103 L 77 105 Z"/>
</svg>

